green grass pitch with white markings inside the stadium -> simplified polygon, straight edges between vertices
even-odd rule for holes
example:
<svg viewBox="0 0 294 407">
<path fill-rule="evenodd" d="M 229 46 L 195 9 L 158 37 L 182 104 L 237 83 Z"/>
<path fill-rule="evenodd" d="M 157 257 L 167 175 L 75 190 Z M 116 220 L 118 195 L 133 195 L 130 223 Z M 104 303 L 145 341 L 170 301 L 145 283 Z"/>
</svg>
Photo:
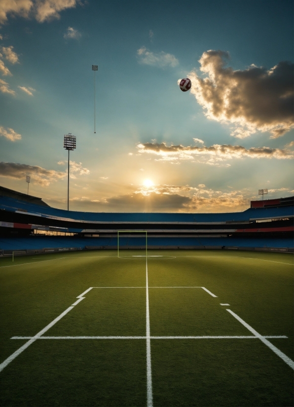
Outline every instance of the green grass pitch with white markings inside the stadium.
<svg viewBox="0 0 294 407">
<path fill-rule="evenodd" d="M 293 255 L 144 254 L 0 259 L 0 405 L 293 406 Z"/>
</svg>

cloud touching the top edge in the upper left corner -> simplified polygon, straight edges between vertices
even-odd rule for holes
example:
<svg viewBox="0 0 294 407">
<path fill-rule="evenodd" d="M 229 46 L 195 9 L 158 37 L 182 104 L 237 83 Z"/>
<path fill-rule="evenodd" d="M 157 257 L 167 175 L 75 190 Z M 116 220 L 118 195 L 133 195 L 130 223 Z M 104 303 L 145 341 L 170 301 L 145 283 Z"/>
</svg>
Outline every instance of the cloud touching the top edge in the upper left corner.
<svg viewBox="0 0 294 407">
<path fill-rule="evenodd" d="M 34 17 L 39 23 L 60 18 L 60 11 L 73 8 L 78 0 L 1 0 L 0 24 L 7 22 L 7 15 Z"/>
</svg>

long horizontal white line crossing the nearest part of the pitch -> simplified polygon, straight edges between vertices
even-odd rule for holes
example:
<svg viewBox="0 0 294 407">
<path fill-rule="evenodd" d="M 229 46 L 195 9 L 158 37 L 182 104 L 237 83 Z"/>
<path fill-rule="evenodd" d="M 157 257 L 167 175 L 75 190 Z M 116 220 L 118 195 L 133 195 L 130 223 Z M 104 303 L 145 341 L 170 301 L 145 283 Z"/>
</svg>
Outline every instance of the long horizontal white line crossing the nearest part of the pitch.
<svg viewBox="0 0 294 407">
<path fill-rule="evenodd" d="M 33 339 L 35 337 L 12 337 L 10 339 Z M 267 339 L 288 339 L 285 335 L 267 335 L 263 338 Z M 147 339 L 147 337 L 39 337 L 37 339 Z M 149 339 L 259 339 L 257 336 L 187 336 L 187 337 L 149 337 Z"/>
</svg>

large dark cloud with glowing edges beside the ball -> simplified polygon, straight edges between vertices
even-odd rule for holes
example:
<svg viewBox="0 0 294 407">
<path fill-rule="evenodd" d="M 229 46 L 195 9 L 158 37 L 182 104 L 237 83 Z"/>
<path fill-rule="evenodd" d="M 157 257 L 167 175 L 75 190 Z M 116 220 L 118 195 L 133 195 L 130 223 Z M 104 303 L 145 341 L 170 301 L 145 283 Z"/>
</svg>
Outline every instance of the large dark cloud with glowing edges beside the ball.
<svg viewBox="0 0 294 407">
<path fill-rule="evenodd" d="M 209 119 L 234 126 L 231 136 L 244 138 L 257 131 L 283 136 L 294 128 L 293 71 L 290 62 L 279 62 L 267 70 L 251 65 L 233 70 L 225 65 L 225 51 L 204 52 L 199 60 L 202 78 L 192 70 L 191 93 Z"/>
</svg>

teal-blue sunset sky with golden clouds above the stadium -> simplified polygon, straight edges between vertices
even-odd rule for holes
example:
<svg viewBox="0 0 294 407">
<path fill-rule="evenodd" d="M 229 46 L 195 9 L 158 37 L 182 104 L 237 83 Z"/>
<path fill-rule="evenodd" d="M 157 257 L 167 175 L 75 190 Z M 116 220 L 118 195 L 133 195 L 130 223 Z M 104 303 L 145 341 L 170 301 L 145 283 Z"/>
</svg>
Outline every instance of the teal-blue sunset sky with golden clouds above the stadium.
<svg viewBox="0 0 294 407">
<path fill-rule="evenodd" d="M 15 4 L 0 4 L 1 185 L 25 192 L 30 174 L 33 195 L 66 208 L 71 132 L 72 209 L 235 211 L 260 188 L 293 195 L 292 1 Z"/>
</svg>

